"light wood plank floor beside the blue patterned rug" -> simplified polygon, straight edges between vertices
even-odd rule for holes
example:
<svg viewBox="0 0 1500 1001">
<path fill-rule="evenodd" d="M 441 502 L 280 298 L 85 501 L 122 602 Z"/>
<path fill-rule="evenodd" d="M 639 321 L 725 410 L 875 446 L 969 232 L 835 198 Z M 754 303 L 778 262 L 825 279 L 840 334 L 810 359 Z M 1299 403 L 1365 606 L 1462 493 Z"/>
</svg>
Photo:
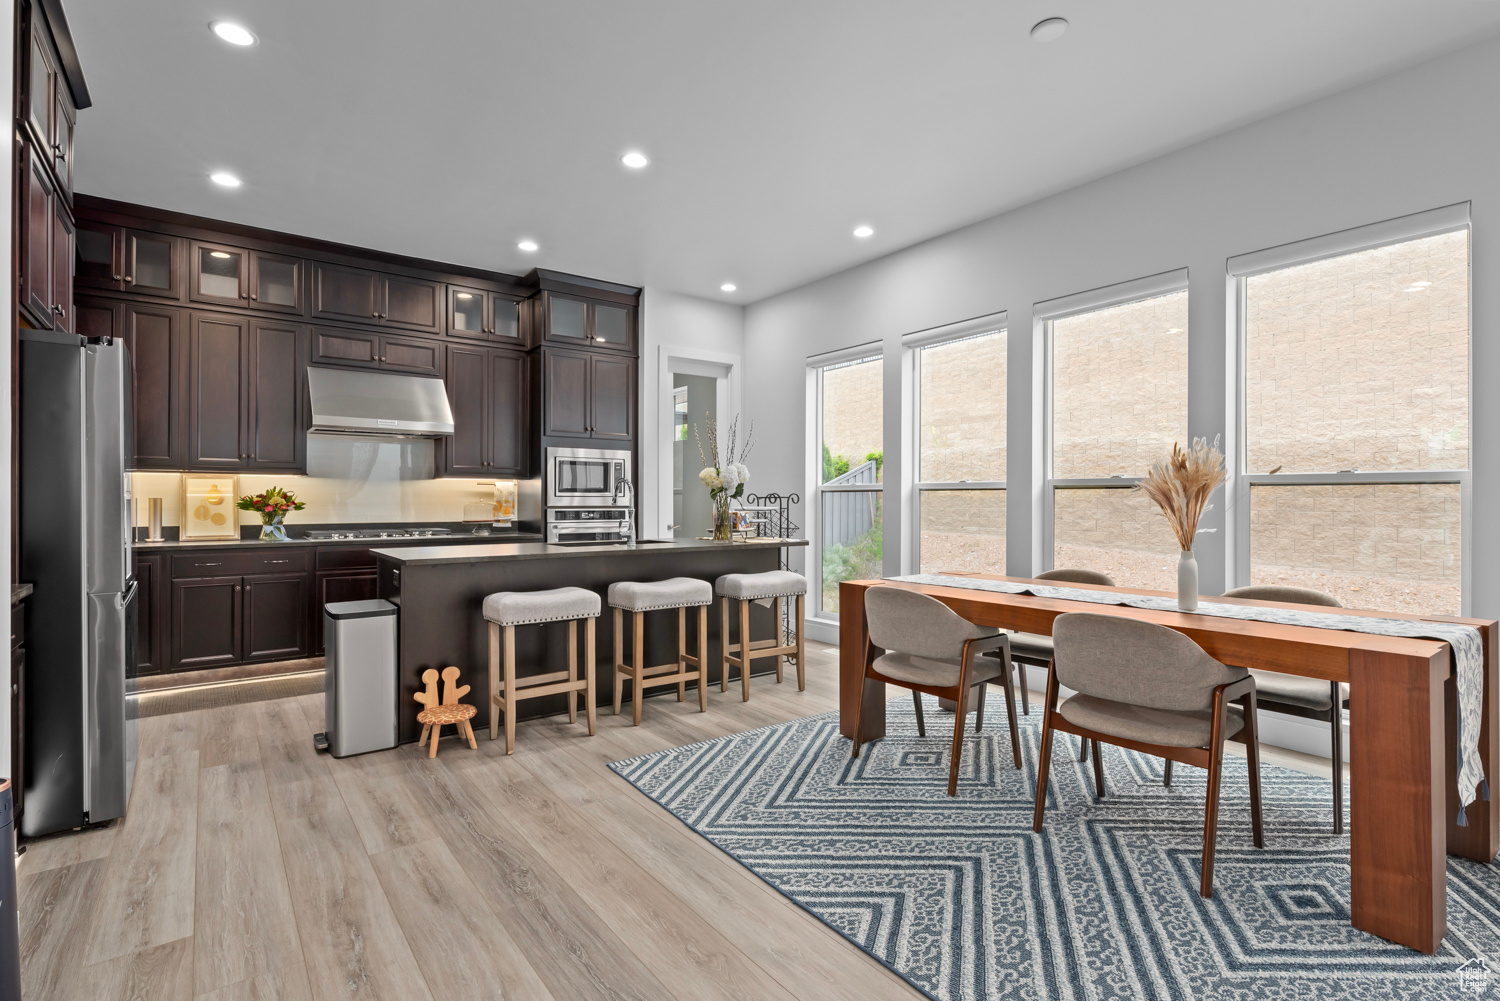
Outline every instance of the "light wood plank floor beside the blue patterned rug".
<svg viewBox="0 0 1500 1001">
<path fill-rule="evenodd" d="M 316 695 L 144 719 L 128 816 L 21 858 L 24 996 L 920 998 L 606 767 L 837 707 L 834 647 L 792 678 L 606 710 L 592 738 L 530 720 L 512 758 L 318 755 Z"/>
</svg>

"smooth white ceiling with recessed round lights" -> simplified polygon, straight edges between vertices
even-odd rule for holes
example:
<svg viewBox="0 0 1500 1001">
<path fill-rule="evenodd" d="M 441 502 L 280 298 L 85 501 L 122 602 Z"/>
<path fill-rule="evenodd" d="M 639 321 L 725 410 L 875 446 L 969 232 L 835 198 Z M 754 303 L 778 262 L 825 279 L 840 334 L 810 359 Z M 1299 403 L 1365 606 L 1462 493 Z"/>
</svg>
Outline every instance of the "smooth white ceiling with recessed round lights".
<svg viewBox="0 0 1500 1001">
<path fill-rule="evenodd" d="M 1467 0 L 64 2 L 78 191 L 729 302 L 1500 32 Z"/>
</svg>

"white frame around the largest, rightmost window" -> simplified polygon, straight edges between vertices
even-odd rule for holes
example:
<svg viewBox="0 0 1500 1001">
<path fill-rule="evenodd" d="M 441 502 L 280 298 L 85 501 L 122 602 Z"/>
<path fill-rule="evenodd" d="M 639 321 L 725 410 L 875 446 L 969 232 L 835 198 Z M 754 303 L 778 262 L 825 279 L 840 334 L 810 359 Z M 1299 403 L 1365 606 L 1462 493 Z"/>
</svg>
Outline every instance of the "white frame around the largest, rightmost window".
<svg viewBox="0 0 1500 1001">
<path fill-rule="evenodd" d="M 1233 587 L 1250 584 L 1250 489 L 1252 486 L 1341 486 L 1356 483 L 1458 483 L 1460 504 L 1460 602 L 1461 615 L 1470 614 L 1470 594 L 1473 591 L 1473 456 L 1474 456 L 1474 284 L 1473 284 L 1473 224 L 1470 221 L 1470 203 L 1458 203 L 1428 212 L 1418 212 L 1396 219 L 1386 219 L 1353 230 L 1342 230 L 1328 236 L 1286 243 L 1264 251 L 1240 254 L 1227 261 L 1228 281 L 1233 282 L 1234 323 L 1230 329 L 1230 359 L 1233 365 L 1233 387 L 1228 396 L 1230 414 L 1228 426 L 1234 428 L 1234 456 L 1230 462 L 1230 488 L 1233 489 L 1234 509 L 1227 518 L 1230 545 L 1227 558 L 1230 561 L 1227 578 Z M 1266 272 L 1278 272 L 1298 264 L 1311 264 L 1330 257 L 1344 257 L 1378 246 L 1407 243 L 1424 237 L 1442 236 L 1468 230 L 1468 470 L 1407 470 L 1407 471 L 1365 471 L 1365 470 L 1330 470 L 1322 473 L 1251 473 L 1248 429 L 1248 392 L 1246 392 L 1246 279 Z"/>
</svg>

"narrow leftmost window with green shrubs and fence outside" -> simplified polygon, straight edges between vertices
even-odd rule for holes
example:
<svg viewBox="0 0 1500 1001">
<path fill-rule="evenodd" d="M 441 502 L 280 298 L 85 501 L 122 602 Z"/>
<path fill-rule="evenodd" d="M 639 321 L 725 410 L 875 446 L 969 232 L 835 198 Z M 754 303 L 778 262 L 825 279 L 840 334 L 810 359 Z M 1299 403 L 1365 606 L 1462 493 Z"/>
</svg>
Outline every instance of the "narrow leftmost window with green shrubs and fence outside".
<svg viewBox="0 0 1500 1001">
<path fill-rule="evenodd" d="M 838 612 L 838 582 L 884 572 L 882 480 L 885 389 L 879 354 L 813 369 L 820 456 L 816 459 L 819 609 Z"/>
</svg>

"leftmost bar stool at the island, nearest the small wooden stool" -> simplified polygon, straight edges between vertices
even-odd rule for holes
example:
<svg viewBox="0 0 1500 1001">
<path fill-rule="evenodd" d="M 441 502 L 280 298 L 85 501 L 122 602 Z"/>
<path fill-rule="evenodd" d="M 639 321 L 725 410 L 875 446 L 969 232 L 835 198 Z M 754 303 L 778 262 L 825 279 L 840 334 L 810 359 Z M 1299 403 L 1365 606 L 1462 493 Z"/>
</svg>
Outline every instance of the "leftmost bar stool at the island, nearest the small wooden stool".
<svg viewBox="0 0 1500 1001">
<path fill-rule="evenodd" d="M 500 734 L 506 714 L 506 753 L 516 750 L 516 708 L 522 699 L 567 695 L 567 722 L 578 722 L 578 692 L 584 693 L 588 735 L 594 735 L 594 620 L 598 594 L 580 587 L 550 591 L 496 591 L 484 599 L 489 620 L 489 738 Z M 578 677 L 578 620 L 584 620 L 584 680 Z M 516 683 L 516 626 L 567 623 L 567 671 L 550 671 Z M 501 647 L 504 645 L 504 656 Z"/>
</svg>

